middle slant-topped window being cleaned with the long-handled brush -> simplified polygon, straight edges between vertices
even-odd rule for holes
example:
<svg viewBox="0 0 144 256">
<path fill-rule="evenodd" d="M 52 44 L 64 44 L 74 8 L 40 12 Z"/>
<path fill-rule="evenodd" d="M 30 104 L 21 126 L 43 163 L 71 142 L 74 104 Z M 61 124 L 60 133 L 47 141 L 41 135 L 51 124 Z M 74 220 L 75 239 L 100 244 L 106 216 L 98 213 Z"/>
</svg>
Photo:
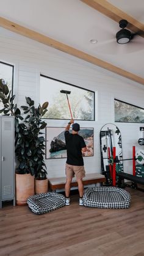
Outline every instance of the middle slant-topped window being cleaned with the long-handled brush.
<svg viewBox="0 0 144 256">
<path fill-rule="evenodd" d="M 66 82 L 40 76 L 40 103 L 49 102 L 45 119 L 71 119 L 67 94 L 60 90 L 68 90 L 68 100 L 75 120 L 95 120 L 95 92 Z"/>
</svg>

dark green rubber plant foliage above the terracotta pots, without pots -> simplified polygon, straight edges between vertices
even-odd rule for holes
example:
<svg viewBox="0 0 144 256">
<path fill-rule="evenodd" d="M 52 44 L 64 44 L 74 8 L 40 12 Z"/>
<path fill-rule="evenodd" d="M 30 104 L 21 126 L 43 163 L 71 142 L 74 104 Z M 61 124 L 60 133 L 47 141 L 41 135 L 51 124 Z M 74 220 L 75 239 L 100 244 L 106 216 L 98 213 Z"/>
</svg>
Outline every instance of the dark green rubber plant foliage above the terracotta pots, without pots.
<svg viewBox="0 0 144 256">
<path fill-rule="evenodd" d="M 3 108 L 0 113 L 15 116 L 15 154 L 19 161 L 18 173 L 35 175 L 35 178 L 46 178 L 46 165 L 44 161 L 45 138 L 41 130 L 46 127 L 46 122 L 41 119 L 48 111 L 48 102 L 34 106 L 34 100 L 26 97 L 26 106 L 20 108 L 13 103 L 15 95 L 3 79 L 0 79 L 0 99 Z"/>
</svg>

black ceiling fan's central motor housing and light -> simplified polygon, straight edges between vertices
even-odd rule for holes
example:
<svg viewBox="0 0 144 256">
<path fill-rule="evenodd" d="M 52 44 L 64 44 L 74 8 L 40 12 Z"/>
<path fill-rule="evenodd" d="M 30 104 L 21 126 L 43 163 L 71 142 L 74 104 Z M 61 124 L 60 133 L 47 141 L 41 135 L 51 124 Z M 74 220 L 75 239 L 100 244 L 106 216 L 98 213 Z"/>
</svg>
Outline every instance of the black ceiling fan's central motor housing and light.
<svg viewBox="0 0 144 256">
<path fill-rule="evenodd" d="M 121 29 L 120 31 L 117 32 L 116 38 L 117 38 L 117 43 L 120 43 L 121 45 L 123 45 L 124 43 L 129 43 L 132 40 L 132 38 L 134 38 L 134 35 L 136 35 L 136 34 L 132 34 L 131 31 L 125 28 L 127 25 L 128 25 L 127 20 L 119 21 L 119 26 L 121 27 Z"/>
</svg>

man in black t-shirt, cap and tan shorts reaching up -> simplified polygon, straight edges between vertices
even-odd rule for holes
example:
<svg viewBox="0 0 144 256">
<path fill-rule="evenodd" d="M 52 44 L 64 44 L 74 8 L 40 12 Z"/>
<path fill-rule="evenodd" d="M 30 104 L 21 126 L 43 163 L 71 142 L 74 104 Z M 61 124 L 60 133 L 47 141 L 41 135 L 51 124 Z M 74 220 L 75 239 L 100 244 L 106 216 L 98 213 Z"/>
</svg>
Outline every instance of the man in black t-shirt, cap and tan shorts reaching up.
<svg viewBox="0 0 144 256">
<path fill-rule="evenodd" d="M 70 133 L 69 130 L 72 123 L 72 133 Z M 74 174 L 76 175 L 79 189 L 79 205 L 83 205 L 82 197 L 84 193 L 84 186 L 82 178 L 85 177 L 85 170 L 82 153 L 87 151 L 87 147 L 82 136 L 79 136 L 78 134 L 79 130 L 79 124 L 74 123 L 73 119 L 70 120 L 65 128 L 65 143 L 67 147 L 67 162 L 65 167 L 65 173 L 67 176 L 65 183 L 66 205 L 70 205 L 70 186 Z"/>
</svg>

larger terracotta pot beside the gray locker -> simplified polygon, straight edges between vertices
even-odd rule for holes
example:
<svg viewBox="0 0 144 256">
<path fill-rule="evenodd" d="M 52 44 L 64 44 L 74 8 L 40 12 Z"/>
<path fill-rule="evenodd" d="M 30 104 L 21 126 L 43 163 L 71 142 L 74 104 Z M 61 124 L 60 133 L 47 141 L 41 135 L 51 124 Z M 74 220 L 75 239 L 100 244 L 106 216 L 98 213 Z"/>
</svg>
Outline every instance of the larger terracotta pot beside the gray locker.
<svg viewBox="0 0 144 256">
<path fill-rule="evenodd" d="M 15 174 L 16 204 L 26 205 L 27 198 L 34 196 L 34 176 L 31 174 Z"/>
</svg>

